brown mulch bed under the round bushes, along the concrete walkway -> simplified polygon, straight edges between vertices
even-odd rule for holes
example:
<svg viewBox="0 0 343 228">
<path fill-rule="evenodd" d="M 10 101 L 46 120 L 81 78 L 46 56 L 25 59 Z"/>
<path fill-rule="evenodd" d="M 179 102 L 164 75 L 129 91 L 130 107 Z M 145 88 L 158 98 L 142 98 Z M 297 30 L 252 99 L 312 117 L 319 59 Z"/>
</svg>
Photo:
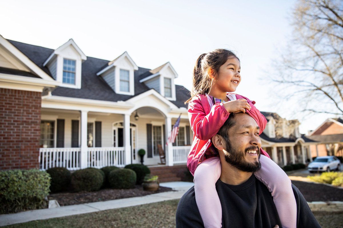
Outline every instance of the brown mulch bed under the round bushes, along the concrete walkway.
<svg viewBox="0 0 343 228">
<path fill-rule="evenodd" d="M 94 192 L 62 192 L 50 194 L 48 200 L 55 199 L 60 206 L 99 202 L 106 200 L 116 200 L 129 197 L 146 196 L 158 192 L 171 191 L 171 188 L 159 187 L 157 191 L 144 191 L 142 185 L 136 185 L 132 189 L 101 189 Z"/>
</svg>

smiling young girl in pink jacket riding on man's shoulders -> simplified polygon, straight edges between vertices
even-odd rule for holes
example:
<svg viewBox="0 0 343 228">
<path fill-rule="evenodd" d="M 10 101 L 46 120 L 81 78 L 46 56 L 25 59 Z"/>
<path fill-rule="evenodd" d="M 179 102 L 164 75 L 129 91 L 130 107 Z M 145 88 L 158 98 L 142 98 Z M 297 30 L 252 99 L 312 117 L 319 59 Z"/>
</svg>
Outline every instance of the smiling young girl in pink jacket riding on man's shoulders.
<svg viewBox="0 0 343 228">
<path fill-rule="evenodd" d="M 204 227 L 222 227 L 222 208 L 215 183 L 221 175 L 221 165 L 211 138 L 217 134 L 230 113 L 253 112 L 261 134 L 267 120 L 254 106 L 255 102 L 238 94 L 240 61 L 231 51 L 216 49 L 199 56 L 193 70 L 191 98 L 187 100 L 188 116 L 194 132 L 187 167 L 194 175 L 197 206 Z M 257 88 L 251 88 L 258 91 Z M 296 227 L 296 202 L 291 180 L 264 150 L 260 150 L 261 169 L 255 176 L 271 192 L 282 227 Z"/>
</svg>

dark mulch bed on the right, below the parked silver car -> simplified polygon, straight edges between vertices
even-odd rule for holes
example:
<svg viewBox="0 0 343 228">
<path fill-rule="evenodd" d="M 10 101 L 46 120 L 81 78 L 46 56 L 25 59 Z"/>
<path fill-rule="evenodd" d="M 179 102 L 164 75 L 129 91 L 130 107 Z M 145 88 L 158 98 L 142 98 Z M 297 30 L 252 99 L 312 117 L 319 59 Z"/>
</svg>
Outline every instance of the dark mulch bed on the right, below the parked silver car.
<svg viewBox="0 0 343 228">
<path fill-rule="evenodd" d="M 307 202 L 343 201 L 343 189 L 333 186 L 292 180 L 292 183 L 304 195 Z"/>
</svg>

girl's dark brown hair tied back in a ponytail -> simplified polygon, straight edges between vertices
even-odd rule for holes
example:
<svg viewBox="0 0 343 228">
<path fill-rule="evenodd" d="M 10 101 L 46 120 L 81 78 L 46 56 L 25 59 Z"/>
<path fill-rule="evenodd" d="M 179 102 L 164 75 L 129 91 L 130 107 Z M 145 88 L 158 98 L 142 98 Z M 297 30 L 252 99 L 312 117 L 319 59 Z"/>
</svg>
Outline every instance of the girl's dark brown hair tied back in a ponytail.
<svg viewBox="0 0 343 228">
<path fill-rule="evenodd" d="M 193 69 L 191 98 L 189 98 L 185 104 L 189 103 L 192 98 L 198 94 L 209 93 L 212 86 L 212 79 L 208 77 L 207 70 L 212 68 L 215 73 L 218 73 L 220 66 L 226 63 L 229 58 L 237 58 L 239 61 L 239 58 L 235 53 L 227 49 L 216 49 L 199 56 Z"/>
</svg>

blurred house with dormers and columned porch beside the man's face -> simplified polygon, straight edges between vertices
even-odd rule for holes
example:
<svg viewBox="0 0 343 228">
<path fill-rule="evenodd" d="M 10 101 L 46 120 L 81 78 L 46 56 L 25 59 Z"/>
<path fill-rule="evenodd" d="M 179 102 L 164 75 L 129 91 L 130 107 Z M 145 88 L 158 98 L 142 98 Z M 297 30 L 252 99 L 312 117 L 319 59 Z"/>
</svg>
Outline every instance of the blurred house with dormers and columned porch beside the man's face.
<svg viewBox="0 0 343 228">
<path fill-rule="evenodd" d="M 310 146 L 314 140 L 299 133 L 299 121 L 281 118 L 277 113 L 261 112 L 267 126 L 260 135 L 262 148 L 276 164 L 306 164 L 312 161 Z"/>
</svg>

